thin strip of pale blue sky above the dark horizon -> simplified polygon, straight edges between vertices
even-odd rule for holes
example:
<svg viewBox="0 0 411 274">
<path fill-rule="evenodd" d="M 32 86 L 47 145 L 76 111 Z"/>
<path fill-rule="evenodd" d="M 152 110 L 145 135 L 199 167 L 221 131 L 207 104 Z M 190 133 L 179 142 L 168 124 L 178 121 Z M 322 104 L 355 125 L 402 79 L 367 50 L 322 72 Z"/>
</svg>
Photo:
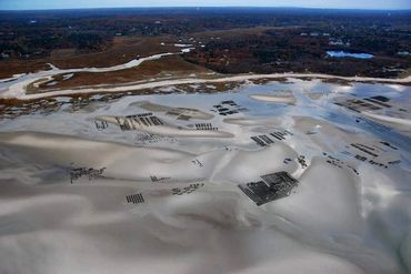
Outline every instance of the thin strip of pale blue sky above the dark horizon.
<svg viewBox="0 0 411 274">
<path fill-rule="evenodd" d="M 222 6 L 411 9 L 411 0 L 0 0 L 0 10 Z"/>
</svg>

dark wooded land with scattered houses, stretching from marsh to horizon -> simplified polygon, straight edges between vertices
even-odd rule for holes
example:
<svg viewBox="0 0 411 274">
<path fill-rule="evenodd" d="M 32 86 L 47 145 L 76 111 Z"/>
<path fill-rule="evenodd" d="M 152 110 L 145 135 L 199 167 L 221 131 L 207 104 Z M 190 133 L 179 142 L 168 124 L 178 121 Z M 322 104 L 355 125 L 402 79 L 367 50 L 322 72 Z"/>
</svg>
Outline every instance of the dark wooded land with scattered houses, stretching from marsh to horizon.
<svg viewBox="0 0 411 274">
<path fill-rule="evenodd" d="M 120 60 L 120 45 L 128 47 L 126 59 L 131 59 L 170 51 L 159 47 L 161 39 L 190 38 L 201 44 L 194 42 L 197 50 L 184 54 L 186 61 L 222 73 L 393 78 L 411 67 L 411 11 L 187 8 L 0 12 L 0 70 L 21 73 L 44 69 L 47 62 L 87 65 L 88 59 L 93 67 L 113 65 L 127 61 Z M 329 58 L 328 50 L 375 58 Z M 100 55 L 87 55 L 93 53 Z M 79 54 L 84 54 L 81 62 L 74 60 Z"/>
</svg>

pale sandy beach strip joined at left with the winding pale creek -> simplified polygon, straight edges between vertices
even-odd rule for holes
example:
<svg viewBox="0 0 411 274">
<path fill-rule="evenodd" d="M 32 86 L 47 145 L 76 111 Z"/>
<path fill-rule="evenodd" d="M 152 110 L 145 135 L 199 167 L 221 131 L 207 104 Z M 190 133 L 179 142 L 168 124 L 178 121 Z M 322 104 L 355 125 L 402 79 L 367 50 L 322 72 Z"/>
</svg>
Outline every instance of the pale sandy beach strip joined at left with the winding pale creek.
<svg viewBox="0 0 411 274">
<path fill-rule="evenodd" d="M 28 94 L 28 87 L 30 84 L 36 83 L 37 81 L 53 77 L 56 74 L 63 74 L 63 73 L 73 73 L 80 71 L 90 71 L 90 72 L 109 72 L 109 71 L 119 71 L 128 68 L 137 68 L 146 61 L 149 60 L 158 60 L 164 55 L 172 55 L 172 54 L 181 54 L 184 50 L 190 51 L 189 49 L 182 49 L 180 52 L 174 53 L 160 53 L 153 54 L 140 59 L 131 60 L 127 63 L 108 67 L 108 68 L 82 68 L 82 69 L 68 69 L 68 70 L 60 70 L 52 64 L 50 71 L 39 71 L 34 73 L 32 78 L 22 79 L 21 81 L 18 75 L 14 80 L 9 79 L 8 81 L 14 82 L 8 87 L 0 89 L 0 99 L 14 99 L 20 101 L 30 101 L 30 100 L 39 100 L 46 98 L 53 98 L 60 95 L 78 95 L 78 94 L 91 94 L 91 93 L 120 93 L 120 92 L 130 92 L 137 90 L 146 90 L 146 89 L 158 89 L 164 88 L 170 85 L 179 85 L 179 84 L 199 84 L 199 83 L 222 83 L 222 82 L 242 82 L 242 81 L 252 81 L 252 80 L 275 80 L 275 79 L 319 79 L 319 80 L 342 80 L 348 82 L 380 82 L 380 83 L 397 83 L 397 84 L 410 84 L 411 83 L 411 75 L 405 78 L 399 79 L 385 79 L 385 78 L 367 78 L 367 77 L 339 77 L 339 75 L 330 75 L 330 74 L 322 74 L 322 73 L 293 73 L 293 72 L 284 72 L 284 73 L 272 73 L 272 74 L 235 74 L 235 75 L 221 75 L 220 78 L 198 78 L 197 75 L 187 75 L 186 78 L 178 78 L 178 79 L 160 79 L 152 81 L 149 79 L 147 81 L 139 81 L 139 82 L 130 82 L 129 84 L 121 84 L 121 85 L 94 85 L 94 87 L 83 87 L 83 88 L 76 88 L 76 89 L 61 89 L 61 90 L 53 90 L 49 92 L 42 93 L 33 93 Z M 4 83 L 0 80 L 0 83 Z"/>
</svg>

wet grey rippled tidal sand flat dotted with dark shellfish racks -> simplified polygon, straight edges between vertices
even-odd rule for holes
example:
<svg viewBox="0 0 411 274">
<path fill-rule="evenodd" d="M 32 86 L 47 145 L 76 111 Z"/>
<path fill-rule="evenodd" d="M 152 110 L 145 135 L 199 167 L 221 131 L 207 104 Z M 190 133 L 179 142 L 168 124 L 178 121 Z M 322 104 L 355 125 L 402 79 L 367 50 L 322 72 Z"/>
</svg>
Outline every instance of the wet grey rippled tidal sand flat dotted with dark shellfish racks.
<svg viewBox="0 0 411 274">
<path fill-rule="evenodd" d="M 283 89 L 293 103 L 250 98 Z M 311 100 L 311 90 L 328 95 Z M 392 108 L 411 92 L 294 79 L 64 99 L 3 119 L 0 272 L 210 273 L 212 262 L 215 273 L 405 274 L 409 136 L 333 103 L 381 90 Z M 221 102 L 247 111 L 217 112 Z M 162 124 L 120 126 L 140 116 Z M 298 181 L 289 195 L 259 206 L 239 187 L 278 172 Z"/>
</svg>

